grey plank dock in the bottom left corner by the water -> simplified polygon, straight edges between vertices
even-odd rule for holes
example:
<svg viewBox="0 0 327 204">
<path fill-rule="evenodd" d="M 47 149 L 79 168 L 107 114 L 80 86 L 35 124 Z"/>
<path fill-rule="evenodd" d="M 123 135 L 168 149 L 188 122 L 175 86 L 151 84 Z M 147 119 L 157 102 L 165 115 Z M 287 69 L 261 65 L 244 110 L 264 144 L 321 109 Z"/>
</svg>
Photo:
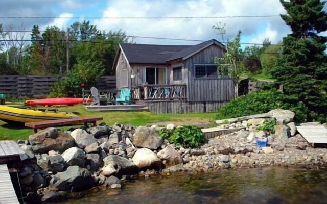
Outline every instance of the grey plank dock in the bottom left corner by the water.
<svg viewBox="0 0 327 204">
<path fill-rule="evenodd" d="M 4 164 L 0 165 L 0 204 L 19 204 L 7 165 Z"/>
</svg>

